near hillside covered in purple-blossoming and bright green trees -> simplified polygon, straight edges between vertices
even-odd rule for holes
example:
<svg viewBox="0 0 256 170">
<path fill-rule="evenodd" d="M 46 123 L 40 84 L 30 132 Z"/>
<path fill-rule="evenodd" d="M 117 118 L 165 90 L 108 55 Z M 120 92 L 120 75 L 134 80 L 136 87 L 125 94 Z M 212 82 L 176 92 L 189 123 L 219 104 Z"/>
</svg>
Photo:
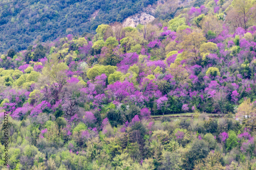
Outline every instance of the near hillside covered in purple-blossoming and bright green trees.
<svg viewBox="0 0 256 170">
<path fill-rule="evenodd" d="M 0 168 L 256 169 L 256 1 L 165 6 L 3 53 Z"/>
</svg>

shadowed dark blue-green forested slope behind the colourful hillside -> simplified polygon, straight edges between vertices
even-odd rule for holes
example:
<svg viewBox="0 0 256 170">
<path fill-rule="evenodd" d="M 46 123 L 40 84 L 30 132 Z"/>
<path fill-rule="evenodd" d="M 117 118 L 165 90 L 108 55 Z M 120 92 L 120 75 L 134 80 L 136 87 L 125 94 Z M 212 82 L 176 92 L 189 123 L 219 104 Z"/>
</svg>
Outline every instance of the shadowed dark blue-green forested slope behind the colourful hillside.
<svg viewBox="0 0 256 170">
<path fill-rule="evenodd" d="M 0 53 L 25 50 L 33 41 L 67 33 L 94 32 L 102 23 L 122 21 L 155 0 L 14 0 L 0 1 Z M 95 15 L 92 15 L 95 14 Z"/>
</svg>

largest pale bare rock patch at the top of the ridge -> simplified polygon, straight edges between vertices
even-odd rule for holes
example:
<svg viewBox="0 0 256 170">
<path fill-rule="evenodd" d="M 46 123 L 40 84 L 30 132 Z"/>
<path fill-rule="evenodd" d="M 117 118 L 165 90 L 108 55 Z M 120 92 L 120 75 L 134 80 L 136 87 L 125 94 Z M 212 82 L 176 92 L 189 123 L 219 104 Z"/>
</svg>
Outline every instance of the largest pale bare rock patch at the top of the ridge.
<svg viewBox="0 0 256 170">
<path fill-rule="evenodd" d="M 127 17 L 123 21 L 123 27 L 137 27 L 140 23 L 141 24 L 146 24 L 148 22 L 151 22 L 155 19 L 154 16 L 146 13 L 140 13 L 140 14 L 135 14 L 132 16 Z"/>
</svg>

